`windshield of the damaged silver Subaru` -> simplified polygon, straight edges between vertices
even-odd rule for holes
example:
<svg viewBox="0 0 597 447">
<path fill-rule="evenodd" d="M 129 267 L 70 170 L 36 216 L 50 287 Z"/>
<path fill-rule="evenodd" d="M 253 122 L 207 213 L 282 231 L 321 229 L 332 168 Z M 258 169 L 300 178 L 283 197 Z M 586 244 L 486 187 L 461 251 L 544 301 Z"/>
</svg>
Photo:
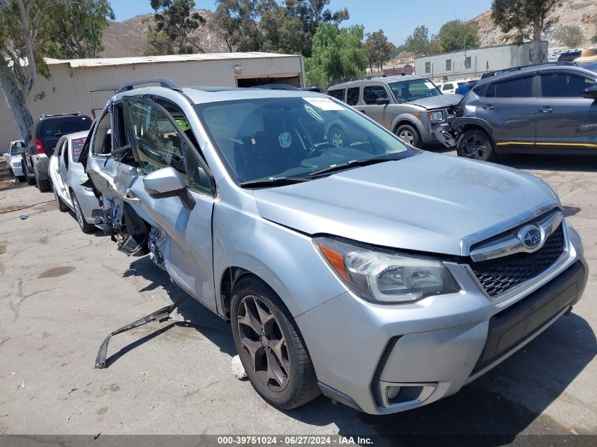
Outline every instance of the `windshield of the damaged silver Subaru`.
<svg viewBox="0 0 597 447">
<path fill-rule="evenodd" d="M 259 98 L 195 107 L 240 183 L 306 179 L 348 162 L 412 155 L 393 133 L 329 97 Z"/>
</svg>

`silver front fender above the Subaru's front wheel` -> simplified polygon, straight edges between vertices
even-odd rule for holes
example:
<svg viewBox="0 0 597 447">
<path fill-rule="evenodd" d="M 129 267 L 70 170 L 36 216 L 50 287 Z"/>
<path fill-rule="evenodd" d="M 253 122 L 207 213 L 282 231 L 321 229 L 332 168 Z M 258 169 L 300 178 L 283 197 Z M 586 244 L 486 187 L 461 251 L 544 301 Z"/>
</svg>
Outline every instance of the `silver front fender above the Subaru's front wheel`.
<svg viewBox="0 0 597 447">
<path fill-rule="evenodd" d="M 292 316 L 342 294 L 347 289 L 321 258 L 312 238 L 259 216 L 254 198 L 242 207 L 216 202 L 212 217 L 213 274 L 218 314 L 225 316 L 220 292 L 230 267 L 264 280 Z"/>
</svg>

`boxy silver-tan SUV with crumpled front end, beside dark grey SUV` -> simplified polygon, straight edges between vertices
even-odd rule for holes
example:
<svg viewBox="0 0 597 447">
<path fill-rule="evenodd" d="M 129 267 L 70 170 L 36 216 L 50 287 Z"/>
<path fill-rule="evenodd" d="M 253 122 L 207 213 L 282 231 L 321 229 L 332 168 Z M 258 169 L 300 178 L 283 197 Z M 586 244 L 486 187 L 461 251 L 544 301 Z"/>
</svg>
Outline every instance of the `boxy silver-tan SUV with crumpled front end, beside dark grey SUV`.
<svg viewBox="0 0 597 447">
<path fill-rule="evenodd" d="M 355 107 L 415 148 L 437 143 L 437 133 L 449 129 L 454 107 L 462 99 L 461 95 L 442 95 L 429 79 L 411 75 L 350 81 L 333 85 L 327 93 Z M 367 138 L 341 122 L 330 123 L 326 132 L 333 145 Z"/>
</svg>

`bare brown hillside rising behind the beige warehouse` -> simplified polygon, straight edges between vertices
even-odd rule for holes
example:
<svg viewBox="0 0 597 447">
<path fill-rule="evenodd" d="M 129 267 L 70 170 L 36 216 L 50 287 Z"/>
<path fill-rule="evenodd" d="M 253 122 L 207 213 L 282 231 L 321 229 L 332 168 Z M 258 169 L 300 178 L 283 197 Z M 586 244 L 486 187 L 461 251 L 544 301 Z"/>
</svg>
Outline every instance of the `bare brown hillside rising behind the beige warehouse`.
<svg viewBox="0 0 597 447">
<path fill-rule="evenodd" d="M 225 42 L 208 27 L 213 13 L 206 9 L 196 11 L 207 20 L 207 23 L 197 30 L 203 50 L 206 53 L 227 52 Z M 104 51 L 100 53 L 100 57 L 143 56 L 147 49 L 147 32 L 150 25 L 155 25 L 153 14 L 135 16 L 123 22 L 110 22 L 104 31 Z"/>
</svg>

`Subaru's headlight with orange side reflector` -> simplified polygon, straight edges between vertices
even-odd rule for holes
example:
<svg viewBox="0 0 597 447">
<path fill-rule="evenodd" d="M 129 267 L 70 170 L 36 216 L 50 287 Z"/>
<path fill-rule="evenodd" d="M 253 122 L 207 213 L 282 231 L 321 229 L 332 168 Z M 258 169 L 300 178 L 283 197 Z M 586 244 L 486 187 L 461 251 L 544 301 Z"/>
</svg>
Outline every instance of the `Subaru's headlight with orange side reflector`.
<svg viewBox="0 0 597 447">
<path fill-rule="evenodd" d="M 371 302 L 408 303 L 460 287 L 441 261 L 368 249 L 326 237 L 314 243 L 355 294 Z"/>
</svg>

